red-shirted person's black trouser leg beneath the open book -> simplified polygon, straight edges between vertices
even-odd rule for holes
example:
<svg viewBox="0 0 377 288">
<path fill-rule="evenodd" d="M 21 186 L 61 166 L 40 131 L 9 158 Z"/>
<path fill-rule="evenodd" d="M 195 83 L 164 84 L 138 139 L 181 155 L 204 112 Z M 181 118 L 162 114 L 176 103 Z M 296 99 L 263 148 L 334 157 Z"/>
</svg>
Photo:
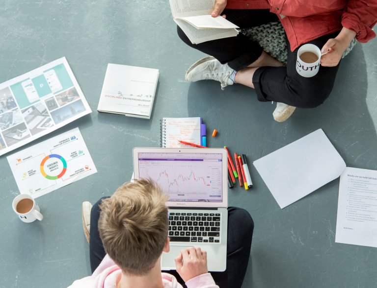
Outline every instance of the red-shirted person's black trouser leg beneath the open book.
<svg viewBox="0 0 377 288">
<path fill-rule="evenodd" d="M 227 20 L 240 28 L 249 28 L 279 21 L 277 16 L 270 13 L 268 9 L 225 9 L 223 14 L 226 15 Z M 249 37 L 246 37 L 242 33 L 239 33 L 235 37 L 192 44 L 179 26 L 177 26 L 177 32 L 178 36 L 188 46 L 214 56 L 222 64 L 228 63 L 229 67 L 236 71 L 253 63 L 263 51 L 257 42 L 250 40 Z"/>
</svg>

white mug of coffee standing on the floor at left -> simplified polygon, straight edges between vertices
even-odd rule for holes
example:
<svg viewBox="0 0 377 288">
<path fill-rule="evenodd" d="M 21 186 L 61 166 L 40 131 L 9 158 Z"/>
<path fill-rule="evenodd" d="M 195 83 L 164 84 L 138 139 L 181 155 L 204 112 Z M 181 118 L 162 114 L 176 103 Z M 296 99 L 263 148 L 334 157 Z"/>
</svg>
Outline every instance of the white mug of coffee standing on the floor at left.
<svg viewBox="0 0 377 288">
<path fill-rule="evenodd" d="M 33 197 L 27 194 L 20 194 L 13 199 L 13 210 L 24 222 L 30 223 L 38 219 L 41 221 L 43 215 L 39 212 L 39 206 Z"/>
</svg>

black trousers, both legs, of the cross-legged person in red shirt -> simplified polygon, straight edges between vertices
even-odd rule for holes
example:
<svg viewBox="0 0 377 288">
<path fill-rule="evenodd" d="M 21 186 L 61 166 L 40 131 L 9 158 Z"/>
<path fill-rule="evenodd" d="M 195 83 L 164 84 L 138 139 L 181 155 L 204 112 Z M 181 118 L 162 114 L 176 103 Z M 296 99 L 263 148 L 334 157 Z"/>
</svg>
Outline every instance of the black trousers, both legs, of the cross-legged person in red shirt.
<svg viewBox="0 0 377 288">
<path fill-rule="evenodd" d="M 223 14 L 230 22 L 240 28 L 249 28 L 279 21 L 278 17 L 266 9 L 225 9 Z M 185 33 L 177 26 L 179 37 L 190 47 L 214 56 L 222 64 L 239 71 L 247 67 L 261 56 L 263 48 L 239 33 L 236 37 L 223 38 L 200 44 L 192 44 Z M 338 32 L 328 34 L 308 43 L 319 48 Z M 253 84 L 259 101 L 276 101 L 299 108 L 313 108 L 322 104 L 330 95 L 334 86 L 339 64 L 335 67 L 321 66 L 317 75 L 305 78 L 296 72 L 296 48 L 293 52 L 286 37 L 288 60 L 287 67 L 261 67 L 254 72 Z"/>
</svg>

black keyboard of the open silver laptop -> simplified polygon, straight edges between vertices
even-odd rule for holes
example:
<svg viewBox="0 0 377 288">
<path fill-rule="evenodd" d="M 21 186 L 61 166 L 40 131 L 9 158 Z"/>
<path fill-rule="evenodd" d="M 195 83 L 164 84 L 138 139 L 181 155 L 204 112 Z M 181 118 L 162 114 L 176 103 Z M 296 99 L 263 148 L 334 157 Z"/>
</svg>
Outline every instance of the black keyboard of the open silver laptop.
<svg viewBox="0 0 377 288">
<path fill-rule="evenodd" d="M 221 213 L 169 213 L 172 242 L 220 243 Z"/>
</svg>

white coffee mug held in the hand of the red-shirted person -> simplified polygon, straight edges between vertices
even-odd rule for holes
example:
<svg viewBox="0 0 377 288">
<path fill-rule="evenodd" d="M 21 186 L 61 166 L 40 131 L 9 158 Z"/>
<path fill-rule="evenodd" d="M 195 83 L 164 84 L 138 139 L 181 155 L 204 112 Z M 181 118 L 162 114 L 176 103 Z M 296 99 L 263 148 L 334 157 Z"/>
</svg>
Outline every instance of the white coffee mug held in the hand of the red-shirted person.
<svg viewBox="0 0 377 288">
<path fill-rule="evenodd" d="M 296 71 L 303 77 L 313 77 L 320 70 L 321 49 L 313 44 L 302 45 L 297 51 Z"/>
</svg>

